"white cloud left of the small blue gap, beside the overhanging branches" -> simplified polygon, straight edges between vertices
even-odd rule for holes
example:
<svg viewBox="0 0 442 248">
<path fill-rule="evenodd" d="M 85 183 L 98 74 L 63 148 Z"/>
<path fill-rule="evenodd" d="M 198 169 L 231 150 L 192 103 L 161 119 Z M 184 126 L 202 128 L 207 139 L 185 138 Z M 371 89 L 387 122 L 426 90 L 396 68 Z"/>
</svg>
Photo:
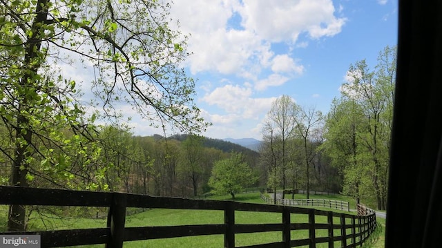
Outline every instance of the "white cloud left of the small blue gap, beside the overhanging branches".
<svg viewBox="0 0 442 248">
<path fill-rule="evenodd" d="M 269 47 L 250 30 L 228 29 L 237 1 L 174 1 L 171 15 L 180 20 L 180 30 L 190 33 L 191 73 L 217 71 L 240 74 L 253 56 L 265 57 Z M 259 55 L 258 55 L 259 53 Z"/>
</svg>

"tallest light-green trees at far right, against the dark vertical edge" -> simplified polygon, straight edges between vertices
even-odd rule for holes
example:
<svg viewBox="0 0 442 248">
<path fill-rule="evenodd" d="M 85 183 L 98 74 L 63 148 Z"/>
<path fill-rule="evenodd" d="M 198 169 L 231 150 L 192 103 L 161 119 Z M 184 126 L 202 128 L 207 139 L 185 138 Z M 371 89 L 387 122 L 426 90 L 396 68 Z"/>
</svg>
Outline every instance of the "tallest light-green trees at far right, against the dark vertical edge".
<svg viewBox="0 0 442 248">
<path fill-rule="evenodd" d="M 327 118 L 323 146 L 345 177 L 345 193 L 356 201 L 362 195 L 374 198 L 381 210 L 387 204 L 395 71 L 396 48 L 388 46 L 379 53 L 375 70 L 365 60 L 350 66 L 341 98 Z"/>
</svg>

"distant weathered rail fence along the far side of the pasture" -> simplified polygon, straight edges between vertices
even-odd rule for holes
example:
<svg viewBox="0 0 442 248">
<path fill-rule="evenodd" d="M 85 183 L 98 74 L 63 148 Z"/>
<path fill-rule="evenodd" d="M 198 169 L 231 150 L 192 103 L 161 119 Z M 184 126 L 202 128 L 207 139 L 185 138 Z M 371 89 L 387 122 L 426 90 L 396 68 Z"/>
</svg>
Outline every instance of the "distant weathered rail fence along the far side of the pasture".
<svg viewBox="0 0 442 248">
<path fill-rule="evenodd" d="M 269 204 L 275 204 L 272 198 L 261 194 L 261 199 Z M 350 211 L 348 202 L 342 200 L 326 200 L 326 199 L 276 199 L 276 204 L 286 206 L 309 206 L 309 207 L 327 207 L 329 209 L 338 209 Z"/>
</svg>

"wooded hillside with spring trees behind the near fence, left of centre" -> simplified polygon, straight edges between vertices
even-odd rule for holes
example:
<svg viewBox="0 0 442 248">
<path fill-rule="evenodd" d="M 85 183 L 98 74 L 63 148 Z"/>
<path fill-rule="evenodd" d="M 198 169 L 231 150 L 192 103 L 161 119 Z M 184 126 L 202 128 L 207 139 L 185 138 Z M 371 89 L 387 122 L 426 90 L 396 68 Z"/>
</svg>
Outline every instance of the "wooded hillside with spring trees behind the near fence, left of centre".
<svg viewBox="0 0 442 248">
<path fill-rule="evenodd" d="M 71 140 L 81 137 L 66 135 L 64 149 L 54 146 L 52 151 L 57 164 L 32 159 L 28 164 L 26 187 L 182 198 L 211 192 L 230 194 L 234 198 L 244 187 L 265 183 L 258 180 L 262 173 L 256 166 L 258 153 L 230 142 L 194 134 L 142 137 L 122 126 L 97 126 L 95 131 L 94 142 L 80 151 L 69 144 L 75 144 Z M 3 154 L 0 159 L 1 185 L 11 185 L 11 161 Z M 20 219 L 21 229 L 26 229 L 31 213 L 42 210 L 21 208 L 26 213 Z"/>
</svg>

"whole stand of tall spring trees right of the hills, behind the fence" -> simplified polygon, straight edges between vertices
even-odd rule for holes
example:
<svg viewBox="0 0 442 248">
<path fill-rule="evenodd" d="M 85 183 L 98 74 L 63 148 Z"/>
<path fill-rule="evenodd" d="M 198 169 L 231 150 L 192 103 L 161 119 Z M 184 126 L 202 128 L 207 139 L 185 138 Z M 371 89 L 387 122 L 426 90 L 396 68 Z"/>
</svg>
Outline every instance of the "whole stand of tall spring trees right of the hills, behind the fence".
<svg viewBox="0 0 442 248">
<path fill-rule="evenodd" d="M 357 203 L 387 206 L 396 47 L 386 46 L 370 69 L 349 66 L 329 113 L 300 106 L 288 95 L 273 102 L 262 128 L 260 162 L 274 189 L 339 191 Z"/>
</svg>

